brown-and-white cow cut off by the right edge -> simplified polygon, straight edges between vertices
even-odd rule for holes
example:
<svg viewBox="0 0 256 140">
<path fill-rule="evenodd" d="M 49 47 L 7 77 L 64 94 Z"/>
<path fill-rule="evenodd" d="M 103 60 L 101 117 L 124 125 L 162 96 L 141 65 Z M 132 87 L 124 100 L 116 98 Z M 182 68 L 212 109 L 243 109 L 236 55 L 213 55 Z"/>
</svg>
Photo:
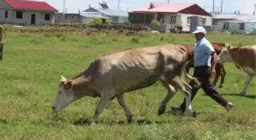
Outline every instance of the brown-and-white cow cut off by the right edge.
<svg viewBox="0 0 256 140">
<path fill-rule="evenodd" d="M 251 79 L 256 74 L 256 45 L 247 45 L 242 47 L 232 47 L 226 44 L 218 56 L 219 63 L 233 62 L 239 70 L 247 73 L 245 86 L 239 95 L 245 95 Z"/>
</svg>

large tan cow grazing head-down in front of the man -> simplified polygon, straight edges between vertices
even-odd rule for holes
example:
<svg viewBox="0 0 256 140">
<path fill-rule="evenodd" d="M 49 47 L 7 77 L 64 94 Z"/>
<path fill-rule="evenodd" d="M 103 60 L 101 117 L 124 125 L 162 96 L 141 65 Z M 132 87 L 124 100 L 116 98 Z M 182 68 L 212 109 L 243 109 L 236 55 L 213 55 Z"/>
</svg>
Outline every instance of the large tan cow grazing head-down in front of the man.
<svg viewBox="0 0 256 140">
<path fill-rule="evenodd" d="M 86 70 L 72 79 L 62 76 L 53 110 L 62 110 L 85 96 L 100 97 L 91 124 L 98 120 L 107 102 L 117 97 L 128 123 L 131 123 L 133 115 L 125 103 L 123 93 L 152 86 L 160 80 L 168 94 L 159 110 L 164 111 L 173 93 L 181 90 L 186 97 L 186 113 L 194 116 L 188 92 L 192 87 L 184 81 L 182 73 L 193 80 L 195 86 L 200 86 L 200 82 L 186 73 L 186 62 L 187 50 L 182 45 L 167 44 L 108 52 L 96 58 Z"/>
</svg>

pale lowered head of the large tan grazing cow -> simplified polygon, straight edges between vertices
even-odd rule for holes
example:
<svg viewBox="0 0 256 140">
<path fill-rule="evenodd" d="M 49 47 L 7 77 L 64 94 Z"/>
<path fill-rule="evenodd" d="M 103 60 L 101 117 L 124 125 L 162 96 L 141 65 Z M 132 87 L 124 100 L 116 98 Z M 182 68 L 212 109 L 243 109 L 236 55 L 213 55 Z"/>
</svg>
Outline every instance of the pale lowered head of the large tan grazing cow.
<svg viewBox="0 0 256 140">
<path fill-rule="evenodd" d="M 59 82 L 58 92 L 55 98 L 55 103 L 53 104 L 54 111 L 62 110 L 62 108 L 66 107 L 73 101 L 81 98 L 81 94 L 73 90 L 75 83 L 71 79 L 67 79 L 61 75 Z"/>
</svg>

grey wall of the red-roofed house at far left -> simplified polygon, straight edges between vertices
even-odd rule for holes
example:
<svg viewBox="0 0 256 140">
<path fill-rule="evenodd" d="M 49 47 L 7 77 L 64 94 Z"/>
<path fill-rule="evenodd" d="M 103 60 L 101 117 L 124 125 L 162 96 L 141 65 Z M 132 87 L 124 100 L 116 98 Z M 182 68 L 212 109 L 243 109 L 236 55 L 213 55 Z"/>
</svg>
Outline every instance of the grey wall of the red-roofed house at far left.
<svg viewBox="0 0 256 140">
<path fill-rule="evenodd" d="M 0 1 L 1 2 L 1 1 Z M 1 5 L 1 4 L 0 4 Z M 5 11 L 8 11 L 8 17 L 5 17 Z M 16 18 L 16 10 L 0 10 L 0 23 L 11 23 L 20 25 L 30 25 L 31 24 L 31 14 L 35 14 L 35 24 L 46 25 L 54 23 L 55 15 L 53 12 L 44 11 L 22 11 L 23 17 L 21 19 Z M 45 14 L 50 14 L 50 20 L 45 20 Z"/>
</svg>

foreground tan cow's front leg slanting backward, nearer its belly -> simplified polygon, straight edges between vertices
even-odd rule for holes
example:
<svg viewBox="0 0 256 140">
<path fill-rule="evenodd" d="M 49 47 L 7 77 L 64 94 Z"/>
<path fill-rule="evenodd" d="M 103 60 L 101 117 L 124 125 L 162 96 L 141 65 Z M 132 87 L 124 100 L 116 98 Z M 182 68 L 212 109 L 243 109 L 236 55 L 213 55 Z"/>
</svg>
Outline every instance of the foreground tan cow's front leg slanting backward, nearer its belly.
<svg viewBox="0 0 256 140">
<path fill-rule="evenodd" d="M 124 112 L 126 113 L 127 122 L 132 123 L 133 114 L 130 112 L 129 108 L 127 107 L 127 104 L 124 100 L 123 93 L 117 95 L 117 101 L 120 104 L 121 107 L 123 107 Z"/>
</svg>

